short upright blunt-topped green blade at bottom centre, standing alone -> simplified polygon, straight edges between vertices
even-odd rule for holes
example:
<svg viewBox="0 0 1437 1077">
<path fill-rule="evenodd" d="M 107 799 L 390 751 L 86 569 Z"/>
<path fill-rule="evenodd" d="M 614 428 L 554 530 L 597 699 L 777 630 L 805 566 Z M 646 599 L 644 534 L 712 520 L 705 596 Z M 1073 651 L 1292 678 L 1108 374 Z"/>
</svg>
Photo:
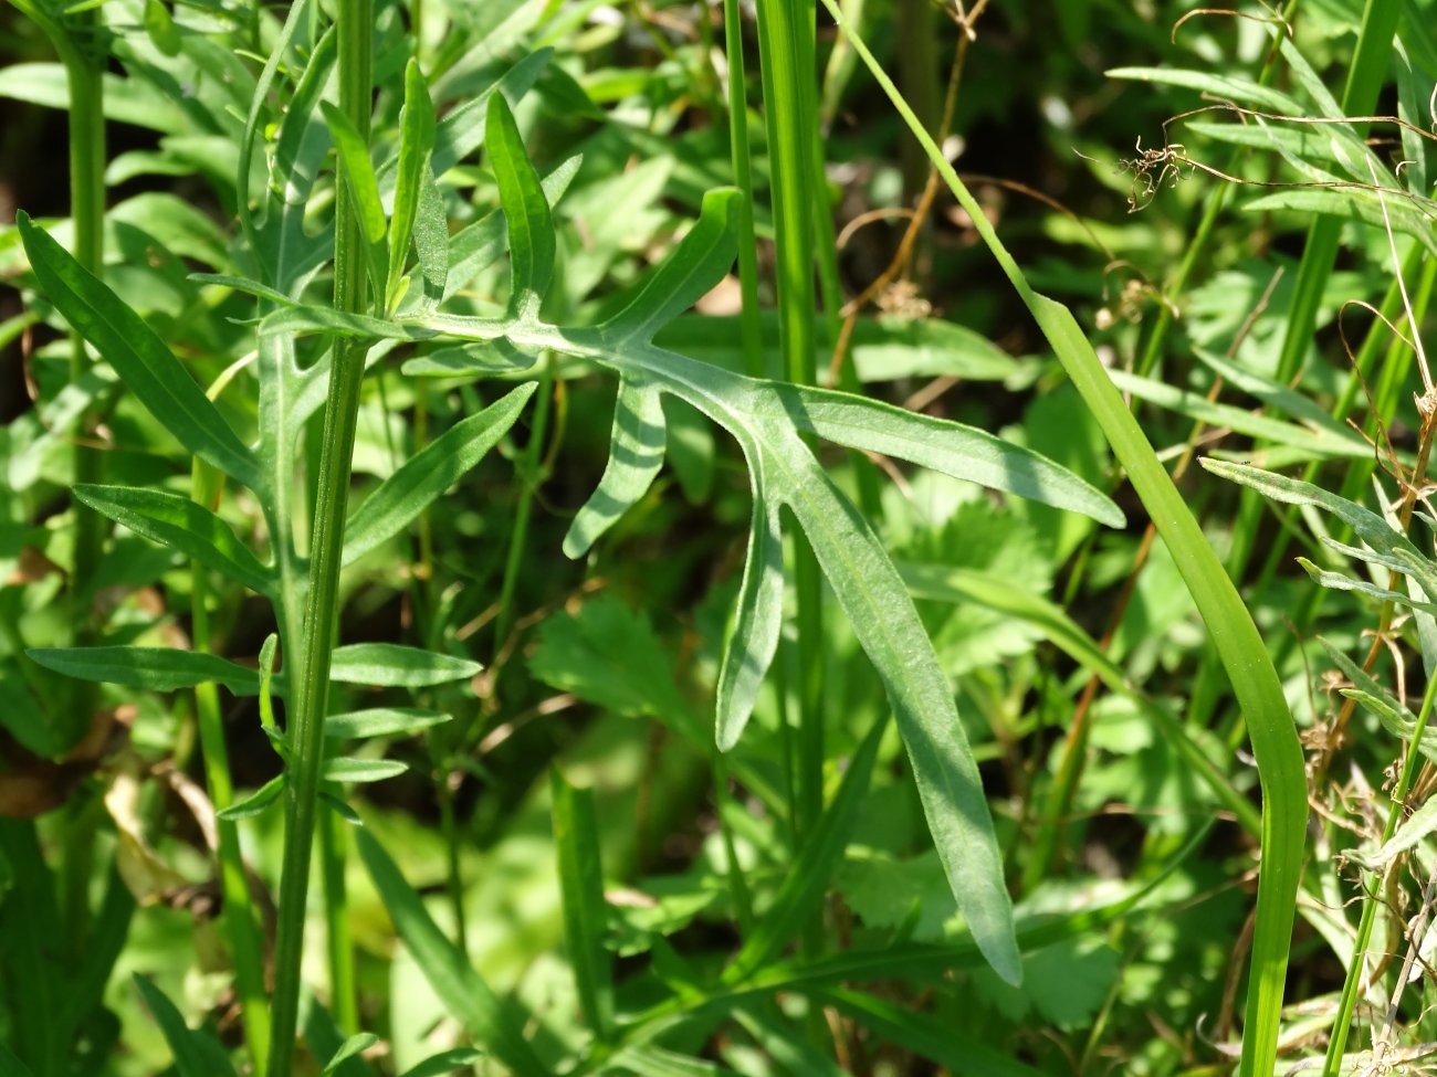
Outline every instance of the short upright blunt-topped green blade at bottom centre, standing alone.
<svg viewBox="0 0 1437 1077">
<path fill-rule="evenodd" d="M 569 964 L 589 1028 L 599 1043 L 611 1043 L 614 968 L 604 945 L 608 905 L 604 900 L 604 864 L 599 859 L 593 793 L 570 785 L 558 768 L 549 771 L 549 791 Z"/>
</svg>

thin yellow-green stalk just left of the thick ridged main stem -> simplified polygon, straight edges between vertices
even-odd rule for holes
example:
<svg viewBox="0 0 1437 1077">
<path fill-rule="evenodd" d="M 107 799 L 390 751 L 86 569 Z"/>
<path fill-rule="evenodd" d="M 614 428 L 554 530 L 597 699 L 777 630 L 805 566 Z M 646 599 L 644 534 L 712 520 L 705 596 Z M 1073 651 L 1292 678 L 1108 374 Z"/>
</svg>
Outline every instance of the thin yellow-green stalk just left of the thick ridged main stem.
<svg viewBox="0 0 1437 1077">
<path fill-rule="evenodd" d="M 195 458 L 190 472 L 191 497 L 210 507 L 220 494 L 220 475 Z M 210 576 L 201 564 L 190 569 L 190 620 L 194 649 L 210 651 Z M 224 745 L 224 724 L 220 718 L 220 691 L 213 682 L 195 685 L 195 725 L 200 732 L 200 752 L 204 757 L 204 780 L 210 788 L 210 803 L 224 811 L 234 803 L 234 783 L 230 780 L 230 755 Z M 256 1077 L 266 1077 L 270 1038 L 269 998 L 264 991 L 264 948 L 250 905 L 250 887 L 240 854 L 239 827 L 226 819 L 216 820 L 220 862 L 221 923 L 228 938 L 234 961 L 234 991 L 240 999 L 244 1021 L 244 1043 L 250 1050 Z"/>
</svg>

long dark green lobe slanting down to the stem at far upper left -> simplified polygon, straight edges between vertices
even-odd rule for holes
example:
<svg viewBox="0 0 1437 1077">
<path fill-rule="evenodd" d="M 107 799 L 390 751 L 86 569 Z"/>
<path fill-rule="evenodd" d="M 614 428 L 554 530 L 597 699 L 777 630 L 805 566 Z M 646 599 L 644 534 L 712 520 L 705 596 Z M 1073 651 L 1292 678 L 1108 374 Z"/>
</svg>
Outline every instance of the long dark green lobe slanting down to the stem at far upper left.
<svg viewBox="0 0 1437 1077">
<path fill-rule="evenodd" d="M 254 454 L 240 442 L 155 330 L 23 211 L 16 225 L 45 294 L 115 368 L 151 415 L 207 464 L 250 490 L 262 490 Z"/>
</svg>

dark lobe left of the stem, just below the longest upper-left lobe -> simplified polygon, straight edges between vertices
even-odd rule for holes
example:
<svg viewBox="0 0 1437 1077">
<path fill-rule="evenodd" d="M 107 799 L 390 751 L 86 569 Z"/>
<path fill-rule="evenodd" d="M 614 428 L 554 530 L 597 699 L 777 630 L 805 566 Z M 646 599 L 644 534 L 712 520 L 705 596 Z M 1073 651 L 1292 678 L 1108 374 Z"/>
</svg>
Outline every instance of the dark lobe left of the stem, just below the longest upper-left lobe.
<svg viewBox="0 0 1437 1077">
<path fill-rule="evenodd" d="M 270 595 L 274 587 L 273 569 L 262 564 L 228 524 L 188 497 L 86 484 L 75 487 L 75 497 L 135 534 L 168 546 L 259 595 Z"/>
</svg>

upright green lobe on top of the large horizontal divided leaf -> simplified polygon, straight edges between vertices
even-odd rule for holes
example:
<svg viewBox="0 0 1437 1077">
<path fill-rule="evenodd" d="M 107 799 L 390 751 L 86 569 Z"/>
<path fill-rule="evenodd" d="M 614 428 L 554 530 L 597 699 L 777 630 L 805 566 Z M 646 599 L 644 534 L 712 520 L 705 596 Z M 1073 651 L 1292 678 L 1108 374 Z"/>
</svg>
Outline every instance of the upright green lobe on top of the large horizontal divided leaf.
<svg viewBox="0 0 1437 1077">
<path fill-rule="evenodd" d="M 529 164 L 514 115 L 502 93 L 489 99 L 484 142 L 509 225 L 509 317 L 537 322 L 539 304 L 553 276 L 553 223 L 539 174 Z"/>
</svg>

